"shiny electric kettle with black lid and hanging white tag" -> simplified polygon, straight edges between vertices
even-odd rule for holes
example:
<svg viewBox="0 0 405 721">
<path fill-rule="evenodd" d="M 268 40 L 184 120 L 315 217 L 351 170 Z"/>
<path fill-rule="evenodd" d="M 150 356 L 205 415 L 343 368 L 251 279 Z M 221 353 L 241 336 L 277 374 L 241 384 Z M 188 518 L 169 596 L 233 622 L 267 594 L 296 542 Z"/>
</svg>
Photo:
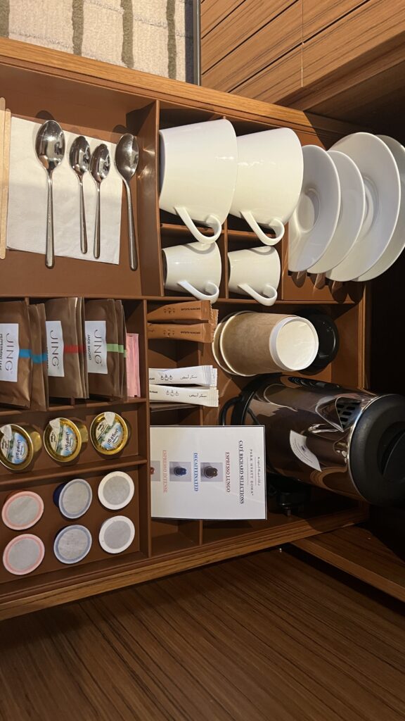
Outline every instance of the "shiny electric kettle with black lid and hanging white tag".
<svg viewBox="0 0 405 721">
<path fill-rule="evenodd" d="M 257 376 L 221 412 L 266 429 L 267 470 L 375 505 L 405 501 L 405 397 Z"/>
</svg>

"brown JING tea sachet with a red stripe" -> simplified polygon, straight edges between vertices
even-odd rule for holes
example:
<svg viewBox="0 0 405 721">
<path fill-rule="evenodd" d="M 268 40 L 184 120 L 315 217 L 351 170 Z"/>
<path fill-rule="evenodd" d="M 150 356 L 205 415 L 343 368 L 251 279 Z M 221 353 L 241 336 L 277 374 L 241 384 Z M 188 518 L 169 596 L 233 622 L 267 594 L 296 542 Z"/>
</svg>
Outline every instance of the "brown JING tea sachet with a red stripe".
<svg viewBox="0 0 405 721">
<path fill-rule="evenodd" d="M 80 298 L 53 298 L 45 303 L 49 394 L 56 398 L 84 398 L 77 334 Z"/>
</svg>

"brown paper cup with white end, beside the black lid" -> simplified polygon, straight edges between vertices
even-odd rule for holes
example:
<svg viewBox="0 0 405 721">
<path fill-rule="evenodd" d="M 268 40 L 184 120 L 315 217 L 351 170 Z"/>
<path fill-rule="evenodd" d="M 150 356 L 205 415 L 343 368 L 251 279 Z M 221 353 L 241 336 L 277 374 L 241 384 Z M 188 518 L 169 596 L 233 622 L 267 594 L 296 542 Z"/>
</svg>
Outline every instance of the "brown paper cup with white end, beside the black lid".
<svg viewBox="0 0 405 721">
<path fill-rule="evenodd" d="M 256 375 L 308 368 L 319 341 L 306 318 L 246 311 L 228 319 L 220 348 L 233 373 Z"/>
</svg>

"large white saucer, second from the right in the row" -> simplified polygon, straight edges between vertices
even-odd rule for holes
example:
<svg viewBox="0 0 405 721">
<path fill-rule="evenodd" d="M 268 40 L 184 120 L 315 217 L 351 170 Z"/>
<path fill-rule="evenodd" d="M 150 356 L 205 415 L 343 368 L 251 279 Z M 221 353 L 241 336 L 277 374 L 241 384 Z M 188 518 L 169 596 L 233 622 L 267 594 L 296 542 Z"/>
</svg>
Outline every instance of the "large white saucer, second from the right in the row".
<svg viewBox="0 0 405 721">
<path fill-rule="evenodd" d="M 326 278 L 356 280 L 380 259 L 393 235 L 401 202 L 399 172 L 386 143 L 371 133 L 353 133 L 331 149 L 348 155 L 362 174 L 365 218 L 357 242 Z"/>
</svg>

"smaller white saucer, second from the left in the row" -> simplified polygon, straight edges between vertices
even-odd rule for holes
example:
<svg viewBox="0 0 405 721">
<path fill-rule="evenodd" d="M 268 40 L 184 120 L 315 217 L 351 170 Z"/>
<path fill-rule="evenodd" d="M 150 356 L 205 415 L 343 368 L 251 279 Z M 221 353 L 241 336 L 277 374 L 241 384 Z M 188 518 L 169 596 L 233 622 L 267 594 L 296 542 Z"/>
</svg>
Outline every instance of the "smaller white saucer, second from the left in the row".
<svg viewBox="0 0 405 721">
<path fill-rule="evenodd" d="M 340 182 L 340 213 L 334 236 L 318 262 L 308 273 L 326 273 L 338 265 L 354 246 L 365 213 L 365 190 L 360 170 L 348 155 L 329 150 Z"/>
</svg>

